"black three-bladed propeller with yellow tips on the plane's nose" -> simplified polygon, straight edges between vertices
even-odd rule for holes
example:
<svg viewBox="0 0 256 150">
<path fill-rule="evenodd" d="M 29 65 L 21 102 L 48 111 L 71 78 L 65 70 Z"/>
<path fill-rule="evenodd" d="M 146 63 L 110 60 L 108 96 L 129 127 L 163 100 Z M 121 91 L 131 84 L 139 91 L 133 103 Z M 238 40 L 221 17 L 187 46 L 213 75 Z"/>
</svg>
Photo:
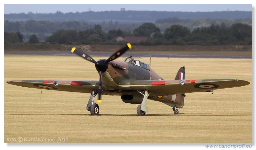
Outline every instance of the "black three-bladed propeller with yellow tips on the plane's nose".
<svg viewBox="0 0 256 150">
<path fill-rule="evenodd" d="M 85 60 L 88 60 L 88 61 L 94 63 L 95 64 L 95 68 L 100 73 L 99 88 L 98 88 L 99 99 L 97 101 L 98 103 L 101 103 L 102 73 L 107 71 L 108 63 L 110 61 L 112 61 L 114 59 L 117 59 L 118 57 L 123 55 L 127 50 L 129 50 L 131 48 L 132 48 L 132 45 L 130 43 L 127 43 L 123 48 L 121 48 L 118 51 L 116 51 L 115 53 L 113 53 L 107 60 L 106 59 L 100 59 L 97 62 L 94 59 L 92 59 L 92 57 L 90 55 L 86 54 L 85 52 L 76 49 L 76 47 L 72 48 L 72 50 L 71 50 L 72 53 L 75 52 L 78 56 L 84 58 Z"/>
</svg>

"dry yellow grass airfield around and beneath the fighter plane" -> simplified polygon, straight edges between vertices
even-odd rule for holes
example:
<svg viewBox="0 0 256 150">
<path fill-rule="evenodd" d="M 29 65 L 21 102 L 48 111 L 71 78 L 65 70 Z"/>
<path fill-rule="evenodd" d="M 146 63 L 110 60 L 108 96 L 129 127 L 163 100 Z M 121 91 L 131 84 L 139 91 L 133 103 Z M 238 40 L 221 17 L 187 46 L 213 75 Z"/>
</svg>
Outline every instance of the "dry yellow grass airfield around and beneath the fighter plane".
<svg viewBox="0 0 256 150">
<path fill-rule="evenodd" d="M 213 95 L 188 93 L 178 115 L 148 100 L 146 116 L 137 116 L 137 105 L 102 95 L 100 115 L 91 116 L 85 110 L 90 94 L 43 90 L 41 95 L 39 89 L 6 82 L 99 80 L 93 63 L 78 56 L 4 55 L 4 142 L 19 143 L 7 138 L 21 137 L 23 143 L 35 142 L 25 138 L 37 138 L 35 143 L 252 143 L 252 59 L 151 58 L 151 68 L 164 79 L 174 79 L 183 65 L 186 79 L 235 78 L 251 84 Z"/>
</svg>

